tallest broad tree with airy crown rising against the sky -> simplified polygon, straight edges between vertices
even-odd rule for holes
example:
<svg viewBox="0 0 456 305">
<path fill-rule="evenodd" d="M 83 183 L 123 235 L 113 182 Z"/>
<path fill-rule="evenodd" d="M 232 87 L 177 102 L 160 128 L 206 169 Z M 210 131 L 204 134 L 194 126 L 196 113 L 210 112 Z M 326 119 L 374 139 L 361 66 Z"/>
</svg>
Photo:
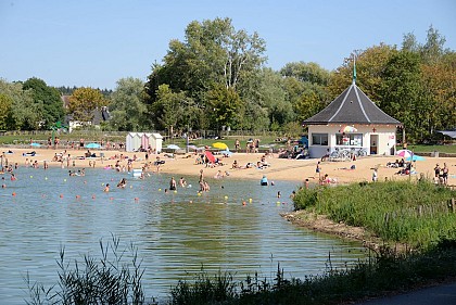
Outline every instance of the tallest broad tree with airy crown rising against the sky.
<svg viewBox="0 0 456 305">
<path fill-rule="evenodd" d="M 241 100 L 252 99 L 241 94 L 239 87 L 255 77 L 266 60 L 264 52 L 264 40 L 256 33 L 236 30 L 230 18 L 191 22 L 185 41 L 172 40 L 164 64 L 152 66 L 145 86 L 149 104 L 154 109 L 164 84 L 173 92 L 186 92 L 200 110 L 210 107 L 206 93 L 219 86 L 232 88 Z"/>
</svg>

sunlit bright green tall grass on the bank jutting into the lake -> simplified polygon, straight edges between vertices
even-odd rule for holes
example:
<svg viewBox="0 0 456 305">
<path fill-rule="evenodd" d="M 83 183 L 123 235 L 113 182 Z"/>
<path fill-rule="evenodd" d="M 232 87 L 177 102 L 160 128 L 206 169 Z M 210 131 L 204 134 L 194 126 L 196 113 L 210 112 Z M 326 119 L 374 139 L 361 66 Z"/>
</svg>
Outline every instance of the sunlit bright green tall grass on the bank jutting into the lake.
<svg viewBox="0 0 456 305">
<path fill-rule="evenodd" d="M 385 241 L 426 249 L 456 238 L 456 192 L 431 182 L 387 181 L 301 190 L 295 209 L 326 214 L 334 221 L 364 227 Z"/>
</svg>

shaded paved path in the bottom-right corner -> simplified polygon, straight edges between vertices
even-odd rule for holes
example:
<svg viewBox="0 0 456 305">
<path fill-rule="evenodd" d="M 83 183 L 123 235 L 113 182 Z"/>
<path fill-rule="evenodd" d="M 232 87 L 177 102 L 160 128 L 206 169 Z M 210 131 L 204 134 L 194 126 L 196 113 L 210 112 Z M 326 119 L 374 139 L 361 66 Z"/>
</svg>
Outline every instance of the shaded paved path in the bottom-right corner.
<svg viewBox="0 0 456 305">
<path fill-rule="evenodd" d="M 456 282 L 366 301 L 357 305 L 456 305 Z"/>
</svg>

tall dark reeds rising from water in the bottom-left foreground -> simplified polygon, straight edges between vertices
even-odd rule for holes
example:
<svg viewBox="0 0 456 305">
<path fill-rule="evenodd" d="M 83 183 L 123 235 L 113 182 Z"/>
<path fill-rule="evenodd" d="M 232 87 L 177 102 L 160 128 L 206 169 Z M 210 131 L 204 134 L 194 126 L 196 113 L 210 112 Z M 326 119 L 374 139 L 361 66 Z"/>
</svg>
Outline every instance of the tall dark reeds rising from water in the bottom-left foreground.
<svg viewBox="0 0 456 305">
<path fill-rule="evenodd" d="M 138 258 L 138 250 L 132 244 L 121 251 L 119 240 L 104 243 L 100 240 L 101 257 L 85 255 L 81 263 L 66 262 L 65 250 L 61 249 L 59 283 L 45 288 L 33 282 L 27 274 L 25 280 L 29 290 L 28 305 L 54 304 L 144 304 L 141 284 L 144 269 Z M 125 259 L 129 257 L 129 262 Z"/>
</svg>

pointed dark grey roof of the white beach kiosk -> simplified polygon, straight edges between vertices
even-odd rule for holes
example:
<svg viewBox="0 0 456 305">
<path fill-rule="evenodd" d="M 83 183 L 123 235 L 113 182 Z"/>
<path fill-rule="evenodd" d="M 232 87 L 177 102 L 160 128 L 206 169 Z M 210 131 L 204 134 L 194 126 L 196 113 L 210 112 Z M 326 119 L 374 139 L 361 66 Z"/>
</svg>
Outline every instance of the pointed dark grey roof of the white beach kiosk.
<svg viewBox="0 0 456 305">
<path fill-rule="evenodd" d="M 380 110 L 353 82 L 326 109 L 305 119 L 303 125 L 327 124 L 402 125 L 401 122 Z"/>
</svg>

